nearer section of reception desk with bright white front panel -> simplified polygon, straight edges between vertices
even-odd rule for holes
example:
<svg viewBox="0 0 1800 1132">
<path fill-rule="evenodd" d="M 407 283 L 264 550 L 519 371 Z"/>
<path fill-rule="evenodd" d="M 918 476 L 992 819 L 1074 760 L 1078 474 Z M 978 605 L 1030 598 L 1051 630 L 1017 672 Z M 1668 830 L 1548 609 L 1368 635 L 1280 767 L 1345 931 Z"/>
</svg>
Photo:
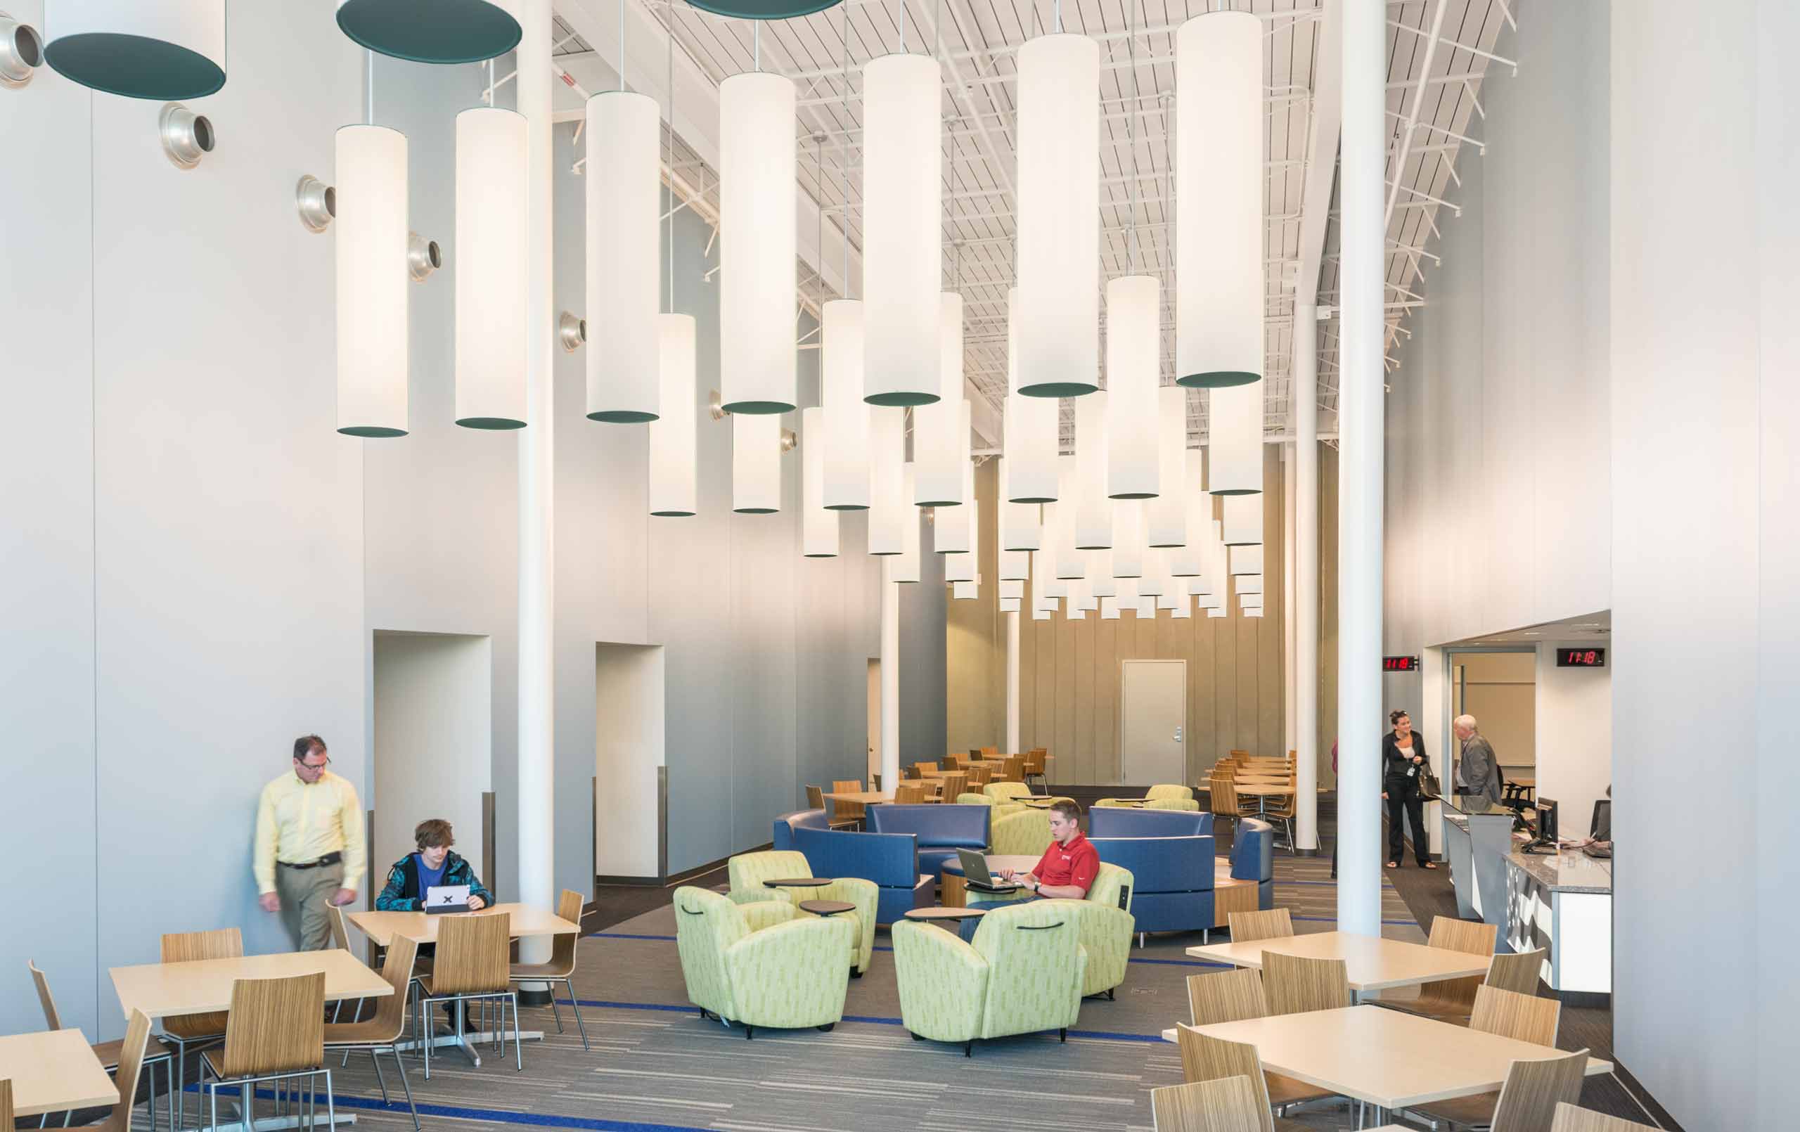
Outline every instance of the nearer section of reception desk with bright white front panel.
<svg viewBox="0 0 1800 1132">
<path fill-rule="evenodd" d="M 1539 977 L 1566 1002 L 1613 993 L 1613 862 L 1586 853 L 1507 857 L 1505 945 L 1544 948 Z"/>
</svg>

